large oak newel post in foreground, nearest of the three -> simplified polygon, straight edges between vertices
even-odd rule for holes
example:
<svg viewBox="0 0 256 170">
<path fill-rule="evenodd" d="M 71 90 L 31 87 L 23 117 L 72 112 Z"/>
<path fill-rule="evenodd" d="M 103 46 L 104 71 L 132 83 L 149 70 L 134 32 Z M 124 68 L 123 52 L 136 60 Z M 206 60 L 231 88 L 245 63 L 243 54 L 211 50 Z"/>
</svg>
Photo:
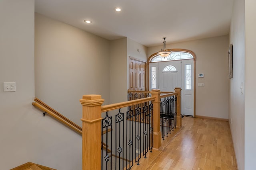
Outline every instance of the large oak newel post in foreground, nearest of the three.
<svg viewBox="0 0 256 170">
<path fill-rule="evenodd" d="M 83 147 L 82 170 L 101 169 L 101 105 L 100 95 L 84 95 L 83 106 Z"/>
</svg>

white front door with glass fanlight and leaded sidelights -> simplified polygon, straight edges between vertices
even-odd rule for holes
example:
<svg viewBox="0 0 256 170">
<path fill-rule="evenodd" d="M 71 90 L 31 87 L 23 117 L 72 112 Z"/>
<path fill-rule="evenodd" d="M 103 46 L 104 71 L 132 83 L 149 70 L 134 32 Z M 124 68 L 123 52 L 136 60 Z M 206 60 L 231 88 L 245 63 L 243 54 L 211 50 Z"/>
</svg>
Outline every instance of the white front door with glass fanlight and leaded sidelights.
<svg viewBox="0 0 256 170">
<path fill-rule="evenodd" d="M 154 81 L 153 81 L 154 80 Z M 181 87 L 181 114 L 194 116 L 194 61 L 150 63 L 150 90 L 174 92 Z"/>
</svg>

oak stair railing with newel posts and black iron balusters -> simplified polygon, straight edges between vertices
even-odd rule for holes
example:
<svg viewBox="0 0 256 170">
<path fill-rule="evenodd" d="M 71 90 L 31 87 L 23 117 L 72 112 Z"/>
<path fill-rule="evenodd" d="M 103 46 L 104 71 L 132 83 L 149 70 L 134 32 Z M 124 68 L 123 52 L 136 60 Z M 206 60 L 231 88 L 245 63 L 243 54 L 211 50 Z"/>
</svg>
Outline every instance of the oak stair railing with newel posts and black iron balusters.
<svg viewBox="0 0 256 170">
<path fill-rule="evenodd" d="M 83 129 L 82 169 L 100 170 L 103 169 L 104 164 L 105 168 L 107 169 L 108 166 L 112 166 L 112 152 L 115 152 L 116 154 L 118 153 L 116 158 L 120 157 L 122 159 L 122 162 L 120 162 L 120 159 L 118 160 L 119 169 L 130 169 L 134 163 L 139 164 L 141 156 L 146 158 L 148 149 L 150 151 L 152 151 L 152 149 L 160 150 L 162 141 L 160 129 L 161 98 L 173 95 L 176 96 L 176 126 L 181 127 L 180 90 L 180 88 L 175 88 L 174 93 L 164 94 L 162 96 L 160 96 L 162 93 L 160 90 L 152 90 L 150 92 L 151 97 L 106 106 L 102 106 L 104 99 L 102 99 L 100 95 L 84 95 L 83 98 L 80 99 L 80 103 L 82 104 L 83 108 L 83 116 L 81 119 Z M 118 113 L 114 113 L 113 115 L 112 111 L 115 109 L 118 110 Z M 113 117 L 115 117 L 115 119 Z M 132 121 L 130 121 L 131 119 Z M 127 137 L 128 134 L 130 134 L 127 129 L 121 128 L 117 130 L 112 128 L 112 126 L 114 126 L 113 122 L 115 123 L 116 127 L 125 127 L 125 123 L 127 126 L 129 123 L 135 122 L 134 124 L 128 126 L 130 131 L 132 131 L 132 128 L 136 129 L 134 132 L 135 135 L 132 135 L 135 140 L 132 141 L 130 140 L 130 137 Z M 102 131 L 104 131 L 104 128 L 105 131 L 108 131 L 110 128 L 113 129 L 113 131 L 115 131 L 115 133 L 119 133 L 119 137 L 123 138 L 124 140 L 119 141 L 119 139 L 112 137 L 112 133 L 114 133 L 112 131 L 110 135 L 106 133 L 106 135 L 103 136 Z M 110 145 L 108 145 L 108 141 L 113 139 L 116 143 L 109 143 Z M 110 147 L 112 152 L 102 152 L 102 142 L 104 140 L 107 141 L 105 146 L 106 150 L 108 150 L 108 147 Z M 148 140 L 148 143 L 151 141 L 150 144 L 152 145 L 149 144 L 143 146 L 140 142 L 142 140 Z M 114 147 L 112 147 L 113 145 Z M 124 153 L 125 148 L 126 153 Z M 129 152 L 129 149 L 132 150 L 132 152 Z M 135 149 L 135 156 L 130 157 L 132 154 L 134 154 L 133 149 Z M 124 158 L 125 156 L 126 158 Z M 126 162 L 126 164 L 124 164 L 123 160 L 131 160 L 131 162 Z M 116 168 L 118 169 L 118 167 Z"/>
</svg>

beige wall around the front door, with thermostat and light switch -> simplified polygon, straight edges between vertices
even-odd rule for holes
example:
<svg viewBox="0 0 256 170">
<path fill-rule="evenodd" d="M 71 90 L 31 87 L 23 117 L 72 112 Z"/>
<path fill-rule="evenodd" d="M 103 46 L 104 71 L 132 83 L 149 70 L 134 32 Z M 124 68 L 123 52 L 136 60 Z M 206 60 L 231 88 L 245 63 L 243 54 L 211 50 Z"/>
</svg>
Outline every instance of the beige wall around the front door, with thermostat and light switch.
<svg viewBox="0 0 256 170">
<path fill-rule="evenodd" d="M 196 115 L 228 119 L 228 35 L 167 44 L 196 54 Z M 162 46 L 149 47 L 148 57 Z M 204 78 L 198 78 L 204 73 Z M 204 87 L 198 87 L 198 82 Z"/>
</svg>

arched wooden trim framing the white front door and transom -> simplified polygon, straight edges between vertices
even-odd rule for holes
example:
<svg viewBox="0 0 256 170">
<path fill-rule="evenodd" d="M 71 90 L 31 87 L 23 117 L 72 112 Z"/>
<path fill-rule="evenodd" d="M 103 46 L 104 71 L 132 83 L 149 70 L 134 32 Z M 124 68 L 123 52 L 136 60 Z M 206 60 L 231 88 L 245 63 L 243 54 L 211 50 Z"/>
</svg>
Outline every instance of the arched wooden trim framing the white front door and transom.
<svg viewBox="0 0 256 170">
<path fill-rule="evenodd" d="M 196 117 L 196 54 L 191 51 L 191 50 L 187 50 L 187 49 L 167 49 L 168 51 L 182 51 L 182 52 L 187 52 L 190 53 L 193 56 L 193 60 L 194 60 L 194 117 Z M 149 63 L 151 63 L 151 60 L 153 57 L 155 57 L 158 52 L 150 55 L 148 57 L 148 62 L 147 62 L 147 66 L 146 66 L 146 75 L 147 75 L 147 82 L 146 82 L 146 90 L 149 90 Z M 186 60 L 186 59 L 185 59 Z M 191 60 L 191 59 L 189 59 Z M 179 61 L 179 60 L 176 60 Z M 166 62 L 166 61 L 161 61 L 161 62 Z"/>
</svg>

